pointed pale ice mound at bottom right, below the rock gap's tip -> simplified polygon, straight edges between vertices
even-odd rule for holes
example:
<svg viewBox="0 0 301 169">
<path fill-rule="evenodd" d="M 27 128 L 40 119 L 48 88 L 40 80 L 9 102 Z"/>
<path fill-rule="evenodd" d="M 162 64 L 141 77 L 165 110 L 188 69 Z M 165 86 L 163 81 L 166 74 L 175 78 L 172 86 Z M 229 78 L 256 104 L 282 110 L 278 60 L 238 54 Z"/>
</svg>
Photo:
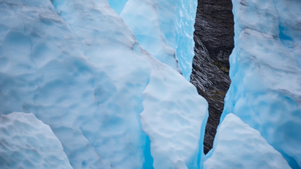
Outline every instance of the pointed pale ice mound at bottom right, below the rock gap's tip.
<svg viewBox="0 0 301 169">
<path fill-rule="evenodd" d="M 212 151 L 213 154 L 204 162 L 204 169 L 290 168 L 259 131 L 232 113 L 220 124 Z"/>
</svg>

